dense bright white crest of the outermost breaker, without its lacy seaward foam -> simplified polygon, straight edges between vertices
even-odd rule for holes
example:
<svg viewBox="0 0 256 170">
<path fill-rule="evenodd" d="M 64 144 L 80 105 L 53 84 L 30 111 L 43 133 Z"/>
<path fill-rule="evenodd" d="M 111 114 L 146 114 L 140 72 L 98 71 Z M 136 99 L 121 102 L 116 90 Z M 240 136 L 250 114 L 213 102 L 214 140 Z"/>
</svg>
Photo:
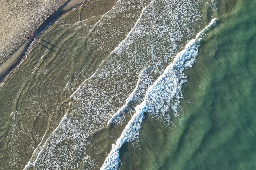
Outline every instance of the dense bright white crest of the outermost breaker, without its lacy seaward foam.
<svg viewBox="0 0 256 170">
<path fill-rule="evenodd" d="M 112 145 L 112 150 L 108 154 L 108 157 L 104 161 L 103 165 L 101 166 L 100 170 L 112 170 L 117 169 L 119 165 L 119 150 L 121 146 L 125 142 L 133 141 L 139 135 L 139 130 L 141 128 L 142 121 L 144 119 L 144 113 L 147 112 L 150 108 L 148 106 L 148 100 L 155 100 L 157 102 L 158 89 L 165 87 L 166 83 L 172 83 L 172 88 L 170 89 L 171 99 L 173 99 L 177 93 L 177 90 L 181 89 L 181 85 L 185 82 L 181 82 L 181 84 L 174 78 L 177 74 L 173 73 L 182 73 L 184 69 L 188 69 L 192 67 L 195 57 L 198 55 L 198 46 L 199 42 L 202 39 L 201 37 L 206 34 L 206 32 L 211 29 L 213 26 L 216 25 L 216 18 L 214 18 L 208 26 L 206 26 L 200 33 L 197 34 L 196 38 L 190 40 L 186 47 L 179 52 L 176 57 L 174 58 L 172 64 L 168 65 L 165 69 L 164 73 L 161 74 L 158 79 L 151 85 L 148 90 L 146 91 L 146 95 L 144 101 L 135 107 L 135 114 L 133 115 L 132 119 L 128 122 L 126 127 L 124 128 L 121 136 L 117 139 L 116 143 Z M 171 81 L 165 82 L 168 79 L 168 75 L 171 76 Z M 164 84 L 163 84 L 164 83 Z M 177 87 L 178 86 L 178 87 Z M 161 97 L 161 96 L 160 96 Z"/>
</svg>

